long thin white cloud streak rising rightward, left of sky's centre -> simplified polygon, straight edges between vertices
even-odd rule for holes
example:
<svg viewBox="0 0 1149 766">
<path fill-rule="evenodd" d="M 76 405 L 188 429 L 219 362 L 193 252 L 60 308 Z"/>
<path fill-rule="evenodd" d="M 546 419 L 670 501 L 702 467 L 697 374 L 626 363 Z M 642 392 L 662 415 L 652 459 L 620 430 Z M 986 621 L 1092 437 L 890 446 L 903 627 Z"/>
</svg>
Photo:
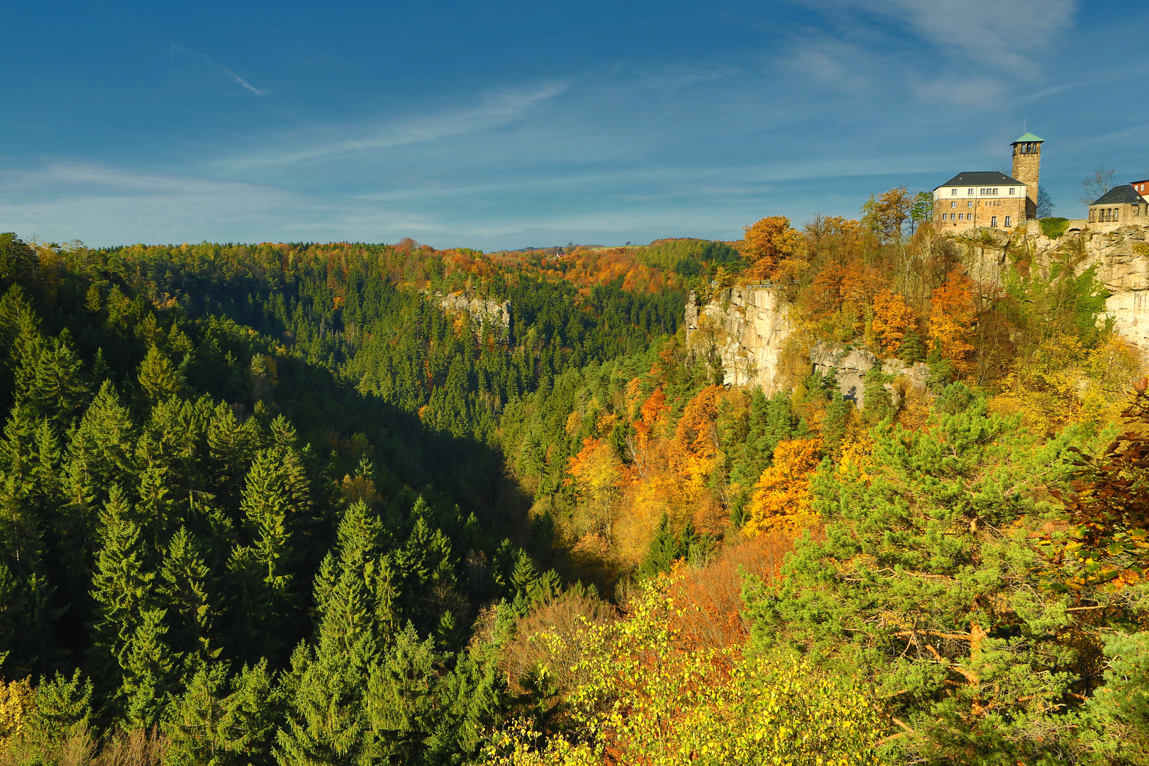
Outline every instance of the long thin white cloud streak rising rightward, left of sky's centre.
<svg viewBox="0 0 1149 766">
<path fill-rule="evenodd" d="M 445 138 L 478 133 L 501 127 L 526 117 L 532 109 L 561 95 L 568 90 L 565 83 L 543 83 L 531 87 L 508 88 L 481 95 L 478 103 L 457 110 L 441 110 L 435 114 L 400 118 L 371 129 L 324 127 L 311 131 L 310 136 L 293 136 L 285 144 L 296 146 L 277 152 L 245 154 L 223 162 L 228 171 L 241 171 L 260 167 L 285 167 L 306 162 L 334 158 L 341 155 L 362 154 L 375 149 L 387 149 L 409 144 L 422 144 Z M 323 136 L 316 137 L 316 132 Z M 357 133 L 331 140 L 332 132 Z"/>
</svg>

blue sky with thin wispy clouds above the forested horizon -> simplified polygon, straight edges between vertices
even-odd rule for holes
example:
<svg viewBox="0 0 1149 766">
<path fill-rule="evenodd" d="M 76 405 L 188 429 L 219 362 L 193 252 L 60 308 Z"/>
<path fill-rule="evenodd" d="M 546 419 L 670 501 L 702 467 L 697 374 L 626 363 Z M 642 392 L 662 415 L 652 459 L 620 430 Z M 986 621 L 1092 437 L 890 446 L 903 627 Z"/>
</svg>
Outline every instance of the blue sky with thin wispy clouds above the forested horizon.
<svg viewBox="0 0 1149 766">
<path fill-rule="evenodd" d="M 93 246 L 737 239 L 1149 168 L 1149 9 L 1073 0 L 8 3 L 0 231 Z"/>
</svg>

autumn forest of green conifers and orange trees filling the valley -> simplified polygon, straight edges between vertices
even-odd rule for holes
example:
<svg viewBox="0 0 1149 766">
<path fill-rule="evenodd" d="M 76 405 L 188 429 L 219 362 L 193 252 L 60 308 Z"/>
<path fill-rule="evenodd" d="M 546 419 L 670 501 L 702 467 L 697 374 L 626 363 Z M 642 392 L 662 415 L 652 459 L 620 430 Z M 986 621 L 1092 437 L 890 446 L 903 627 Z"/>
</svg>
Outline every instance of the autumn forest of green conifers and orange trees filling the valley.
<svg viewBox="0 0 1149 766">
<path fill-rule="evenodd" d="M 561 255 L 0 235 L 0 761 L 1149 764 L 1146 361 L 1073 235 L 911 203 Z M 799 326 L 769 396 L 685 332 L 748 283 Z M 816 343 L 928 380 L 858 408 Z"/>
</svg>

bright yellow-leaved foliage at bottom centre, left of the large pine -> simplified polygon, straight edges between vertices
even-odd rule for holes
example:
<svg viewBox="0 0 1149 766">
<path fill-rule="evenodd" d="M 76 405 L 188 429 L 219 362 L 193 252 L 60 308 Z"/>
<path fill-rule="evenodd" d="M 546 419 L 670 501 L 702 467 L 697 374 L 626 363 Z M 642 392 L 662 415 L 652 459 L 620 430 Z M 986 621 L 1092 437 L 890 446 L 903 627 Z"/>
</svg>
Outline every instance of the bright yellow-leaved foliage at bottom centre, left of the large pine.
<svg viewBox="0 0 1149 766">
<path fill-rule="evenodd" d="M 540 634 L 581 682 L 549 736 L 519 719 L 484 749 L 488 766 L 869 766 L 888 733 L 876 701 L 807 665 L 684 649 L 684 613 L 648 582 L 625 619 Z"/>
</svg>

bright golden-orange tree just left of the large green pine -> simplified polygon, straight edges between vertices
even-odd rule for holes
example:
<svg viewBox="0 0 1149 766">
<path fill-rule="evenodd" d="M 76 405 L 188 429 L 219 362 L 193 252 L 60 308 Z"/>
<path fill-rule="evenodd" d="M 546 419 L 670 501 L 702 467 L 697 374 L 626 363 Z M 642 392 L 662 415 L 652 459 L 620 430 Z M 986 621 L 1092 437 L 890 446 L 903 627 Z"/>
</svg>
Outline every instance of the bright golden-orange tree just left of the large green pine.
<svg viewBox="0 0 1149 766">
<path fill-rule="evenodd" d="M 822 462 L 822 439 L 787 439 L 774 448 L 773 465 L 762 472 L 750 498 L 750 536 L 764 529 L 800 529 L 815 521 L 810 478 Z"/>
</svg>

